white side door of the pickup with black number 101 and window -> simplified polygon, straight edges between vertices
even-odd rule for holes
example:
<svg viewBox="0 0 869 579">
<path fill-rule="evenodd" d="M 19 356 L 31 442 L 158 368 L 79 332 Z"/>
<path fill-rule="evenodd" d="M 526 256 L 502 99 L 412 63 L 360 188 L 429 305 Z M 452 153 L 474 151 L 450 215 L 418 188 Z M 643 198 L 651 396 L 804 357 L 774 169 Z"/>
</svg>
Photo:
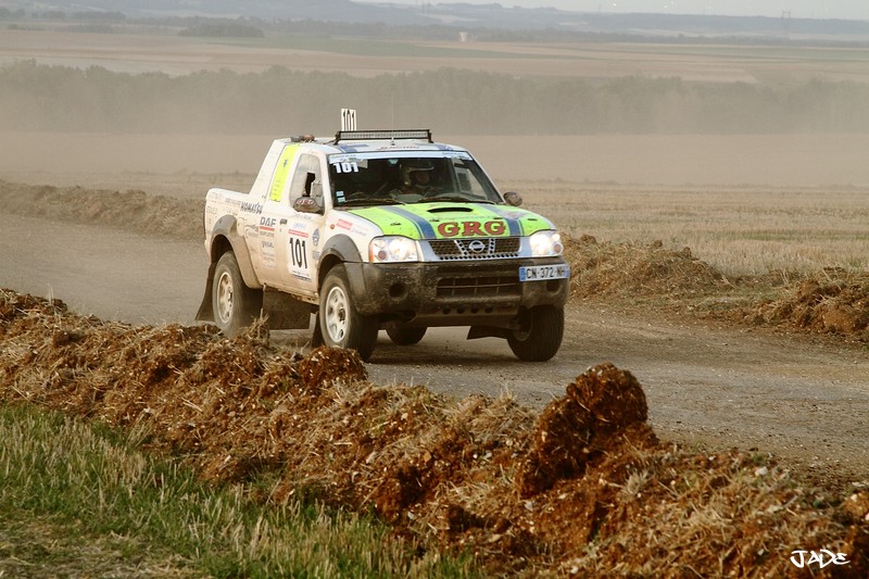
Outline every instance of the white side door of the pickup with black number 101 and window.
<svg viewBox="0 0 869 579">
<path fill-rule="evenodd" d="M 299 198 L 310 197 L 324 206 L 323 167 L 316 155 L 299 155 L 290 180 L 289 211 L 275 226 L 279 287 L 311 297 L 317 291 L 315 257 L 319 257 L 317 247 L 323 235 L 324 213 L 300 213 L 293 211 L 292 205 Z"/>
</svg>

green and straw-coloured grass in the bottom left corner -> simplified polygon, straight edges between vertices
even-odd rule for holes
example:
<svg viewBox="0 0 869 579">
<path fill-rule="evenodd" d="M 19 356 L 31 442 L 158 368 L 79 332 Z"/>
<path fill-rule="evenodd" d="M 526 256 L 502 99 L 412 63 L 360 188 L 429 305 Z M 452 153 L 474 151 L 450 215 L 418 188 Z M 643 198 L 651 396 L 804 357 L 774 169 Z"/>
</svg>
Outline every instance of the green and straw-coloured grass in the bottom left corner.
<svg viewBox="0 0 869 579">
<path fill-rule="evenodd" d="M 268 481 L 209 487 L 141 433 L 0 406 L 2 577 L 468 577 L 356 514 L 264 505 Z"/>
</svg>

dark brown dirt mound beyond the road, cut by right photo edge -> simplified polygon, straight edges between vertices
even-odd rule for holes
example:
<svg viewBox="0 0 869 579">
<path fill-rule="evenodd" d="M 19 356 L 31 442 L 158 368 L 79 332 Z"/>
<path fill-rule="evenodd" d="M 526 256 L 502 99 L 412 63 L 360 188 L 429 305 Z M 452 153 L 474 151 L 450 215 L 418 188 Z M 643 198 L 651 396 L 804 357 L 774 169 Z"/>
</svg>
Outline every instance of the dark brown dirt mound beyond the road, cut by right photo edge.
<svg viewBox="0 0 869 579">
<path fill-rule="evenodd" d="M 839 333 L 869 342 L 869 274 L 828 269 L 741 315 L 750 324 Z"/>
</svg>

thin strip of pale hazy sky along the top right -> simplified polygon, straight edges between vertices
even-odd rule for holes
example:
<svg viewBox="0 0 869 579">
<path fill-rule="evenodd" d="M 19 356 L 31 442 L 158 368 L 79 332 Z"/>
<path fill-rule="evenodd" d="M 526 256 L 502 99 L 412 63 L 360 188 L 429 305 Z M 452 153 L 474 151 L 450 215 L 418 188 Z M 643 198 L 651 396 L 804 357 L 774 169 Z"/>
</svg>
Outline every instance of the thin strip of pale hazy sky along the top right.
<svg viewBox="0 0 869 579">
<path fill-rule="evenodd" d="M 362 0 L 396 4 L 427 3 L 423 0 Z M 505 8 L 552 7 L 578 12 L 660 12 L 669 14 L 722 14 L 773 16 L 790 11 L 794 18 L 846 18 L 869 21 L 869 0 L 428 0 L 428 3 L 491 4 Z"/>
</svg>

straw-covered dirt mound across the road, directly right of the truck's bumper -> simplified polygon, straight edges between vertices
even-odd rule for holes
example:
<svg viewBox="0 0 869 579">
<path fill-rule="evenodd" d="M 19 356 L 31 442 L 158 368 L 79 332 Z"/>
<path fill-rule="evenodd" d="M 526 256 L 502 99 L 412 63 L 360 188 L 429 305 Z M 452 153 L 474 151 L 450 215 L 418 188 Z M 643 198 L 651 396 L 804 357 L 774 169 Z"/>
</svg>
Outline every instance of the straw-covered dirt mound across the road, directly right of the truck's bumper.
<svg viewBox="0 0 869 579">
<path fill-rule="evenodd" d="M 728 286 L 725 276 L 691 255 L 672 251 L 660 241 L 599 242 L 592 236 L 565 237 L 565 257 L 571 267 L 571 294 L 576 298 L 613 295 L 669 295 L 708 293 Z"/>
</svg>

